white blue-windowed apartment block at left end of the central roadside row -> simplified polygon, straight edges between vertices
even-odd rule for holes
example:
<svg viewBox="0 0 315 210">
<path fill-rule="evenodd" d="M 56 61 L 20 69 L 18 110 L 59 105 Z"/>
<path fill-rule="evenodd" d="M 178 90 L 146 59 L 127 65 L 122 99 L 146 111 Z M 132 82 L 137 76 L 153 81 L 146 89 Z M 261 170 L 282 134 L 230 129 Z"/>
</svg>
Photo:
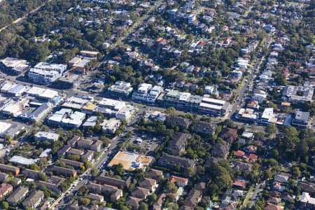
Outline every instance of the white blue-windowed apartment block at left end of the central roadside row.
<svg viewBox="0 0 315 210">
<path fill-rule="evenodd" d="M 163 88 L 155 85 L 154 87 L 151 84 L 142 83 L 139 85 L 138 90 L 132 94 L 132 99 L 136 101 L 155 103 L 155 100 L 161 94 Z"/>
</svg>

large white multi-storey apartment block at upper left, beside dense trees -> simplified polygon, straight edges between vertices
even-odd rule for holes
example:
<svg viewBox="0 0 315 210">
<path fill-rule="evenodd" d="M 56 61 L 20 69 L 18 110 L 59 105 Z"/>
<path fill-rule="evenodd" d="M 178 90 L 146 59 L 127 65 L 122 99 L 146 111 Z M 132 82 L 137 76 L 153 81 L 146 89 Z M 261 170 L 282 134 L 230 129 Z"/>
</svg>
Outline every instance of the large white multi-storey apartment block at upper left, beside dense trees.
<svg viewBox="0 0 315 210">
<path fill-rule="evenodd" d="M 64 64 L 50 64 L 40 62 L 29 70 L 28 76 L 35 83 L 53 83 L 62 76 L 62 73 L 66 71 L 66 65 Z"/>
</svg>

